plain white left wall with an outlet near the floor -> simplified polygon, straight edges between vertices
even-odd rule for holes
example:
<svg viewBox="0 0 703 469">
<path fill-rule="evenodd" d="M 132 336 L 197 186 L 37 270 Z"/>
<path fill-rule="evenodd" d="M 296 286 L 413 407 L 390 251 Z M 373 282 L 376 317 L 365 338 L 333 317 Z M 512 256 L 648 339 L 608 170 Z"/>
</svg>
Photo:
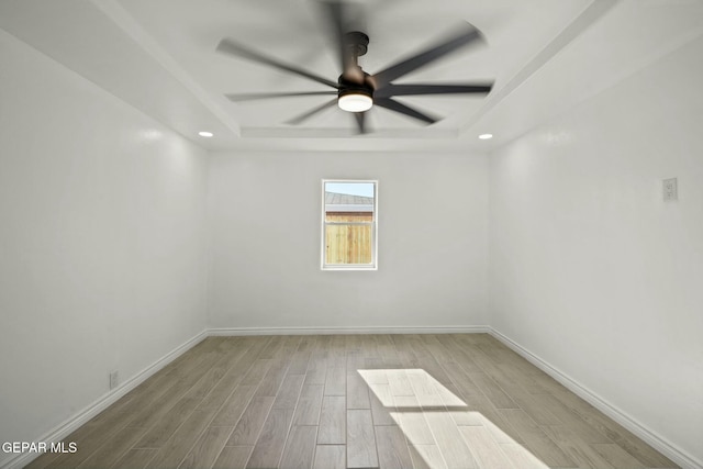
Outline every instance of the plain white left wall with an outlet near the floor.
<svg viewBox="0 0 703 469">
<path fill-rule="evenodd" d="M 0 442 L 31 442 L 205 327 L 207 153 L 2 31 L 0 63 Z"/>
</svg>

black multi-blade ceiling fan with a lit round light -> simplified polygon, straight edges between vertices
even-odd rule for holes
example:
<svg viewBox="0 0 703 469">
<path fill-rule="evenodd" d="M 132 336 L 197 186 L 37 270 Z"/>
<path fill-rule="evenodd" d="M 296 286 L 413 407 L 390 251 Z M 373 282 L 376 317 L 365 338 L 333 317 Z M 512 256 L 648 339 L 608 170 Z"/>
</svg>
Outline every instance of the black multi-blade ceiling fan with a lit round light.
<svg viewBox="0 0 703 469">
<path fill-rule="evenodd" d="M 311 109 L 291 120 L 289 124 L 300 124 L 306 119 L 332 108 L 335 104 L 339 109 L 354 114 L 356 126 L 360 134 L 368 132 L 366 113 L 375 105 L 394 111 L 426 124 L 433 124 L 438 118 L 426 114 L 411 108 L 394 97 L 420 94 L 486 94 L 491 91 L 493 82 L 480 83 L 393 83 L 393 80 L 403 77 L 411 71 L 425 67 L 433 62 L 453 53 L 460 47 L 481 42 L 481 32 L 469 23 L 464 23 L 445 38 L 434 45 L 400 60 L 381 71 L 369 75 L 359 67 L 358 58 L 368 51 L 369 36 L 350 26 L 349 3 L 343 1 L 320 1 L 326 20 L 331 23 L 333 44 L 337 59 L 342 68 L 342 75 L 337 81 L 321 77 L 314 72 L 304 70 L 295 65 L 287 64 L 277 58 L 266 56 L 248 46 L 242 45 L 231 38 L 224 38 L 217 45 L 216 51 L 236 57 L 246 58 L 259 64 L 271 66 L 279 70 L 291 72 L 312 81 L 325 85 L 333 90 L 302 91 L 302 92 L 258 92 L 244 94 L 225 94 L 231 101 L 248 101 L 268 98 L 301 97 L 301 96 L 336 96 L 316 108 Z"/>
</svg>

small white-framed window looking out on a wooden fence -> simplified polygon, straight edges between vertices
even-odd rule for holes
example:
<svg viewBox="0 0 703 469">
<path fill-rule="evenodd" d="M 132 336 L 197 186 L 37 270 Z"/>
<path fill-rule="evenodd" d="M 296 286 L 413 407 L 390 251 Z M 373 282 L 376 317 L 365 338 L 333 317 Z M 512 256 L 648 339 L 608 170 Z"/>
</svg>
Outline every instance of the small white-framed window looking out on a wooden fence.
<svg viewBox="0 0 703 469">
<path fill-rule="evenodd" d="M 322 268 L 376 270 L 378 181 L 322 181 Z"/>
</svg>

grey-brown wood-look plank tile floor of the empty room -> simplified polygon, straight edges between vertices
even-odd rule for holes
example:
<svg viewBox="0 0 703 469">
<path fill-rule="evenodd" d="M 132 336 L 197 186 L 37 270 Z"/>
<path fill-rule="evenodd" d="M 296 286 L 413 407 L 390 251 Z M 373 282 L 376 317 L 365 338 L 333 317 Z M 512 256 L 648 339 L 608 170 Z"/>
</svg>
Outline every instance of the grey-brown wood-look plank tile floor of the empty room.
<svg viewBox="0 0 703 469">
<path fill-rule="evenodd" d="M 211 337 L 30 468 L 671 468 L 487 334 Z"/>
</svg>

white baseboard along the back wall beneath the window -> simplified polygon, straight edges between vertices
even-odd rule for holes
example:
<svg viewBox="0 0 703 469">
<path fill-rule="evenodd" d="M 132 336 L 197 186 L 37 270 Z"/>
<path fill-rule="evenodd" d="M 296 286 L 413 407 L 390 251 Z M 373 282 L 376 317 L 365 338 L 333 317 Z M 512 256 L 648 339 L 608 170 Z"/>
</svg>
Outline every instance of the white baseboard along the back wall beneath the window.
<svg viewBox="0 0 703 469">
<path fill-rule="evenodd" d="M 348 327 L 220 327 L 211 336 L 241 335 L 342 335 L 342 334 L 476 334 L 490 333 L 489 326 L 348 326 Z"/>
</svg>

